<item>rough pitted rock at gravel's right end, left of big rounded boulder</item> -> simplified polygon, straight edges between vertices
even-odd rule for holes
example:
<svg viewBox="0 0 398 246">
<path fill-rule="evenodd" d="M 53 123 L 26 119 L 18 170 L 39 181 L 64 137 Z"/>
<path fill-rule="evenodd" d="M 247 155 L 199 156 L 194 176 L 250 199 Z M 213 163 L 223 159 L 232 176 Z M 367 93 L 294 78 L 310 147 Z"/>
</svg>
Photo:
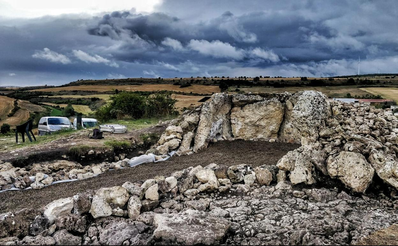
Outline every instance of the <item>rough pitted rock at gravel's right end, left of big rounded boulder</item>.
<svg viewBox="0 0 398 246">
<path fill-rule="evenodd" d="M 290 171 L 290 181 L 293 185 L 304 183 L 313 184 L 315 179 L 313 171 L 316 167 L 327 174 L 326 154 L 320 143 L 307 144 L 298 149 L 289 151 L 277 163 L 277 167 L 283 171 Z"/>
</svg>

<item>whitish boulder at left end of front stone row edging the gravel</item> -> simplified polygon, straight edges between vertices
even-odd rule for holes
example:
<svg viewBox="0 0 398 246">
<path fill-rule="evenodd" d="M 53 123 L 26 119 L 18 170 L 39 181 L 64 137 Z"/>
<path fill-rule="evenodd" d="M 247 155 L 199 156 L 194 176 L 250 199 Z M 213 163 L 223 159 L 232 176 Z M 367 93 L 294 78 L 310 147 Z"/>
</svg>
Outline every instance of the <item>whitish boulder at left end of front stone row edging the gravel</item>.
<svg viewBox="0 0 398 246">
<path fill-rule="evenodd" d="M 50 225 L 54 224 L 57 217 L 71 214 L 73 199 L 63 198 L 55 200 L 44 207 L 43 215 L 47 217 Z"/>
</svg>

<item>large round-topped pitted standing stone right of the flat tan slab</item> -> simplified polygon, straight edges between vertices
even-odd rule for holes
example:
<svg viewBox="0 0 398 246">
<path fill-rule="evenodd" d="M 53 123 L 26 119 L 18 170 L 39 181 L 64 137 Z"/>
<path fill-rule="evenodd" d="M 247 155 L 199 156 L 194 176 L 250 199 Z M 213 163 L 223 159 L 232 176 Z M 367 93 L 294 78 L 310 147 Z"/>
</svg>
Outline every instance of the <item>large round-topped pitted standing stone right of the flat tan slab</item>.
<svg viewBox="0 0 398 246">
<path fill-rule="evenodd" d="M 280 136 L 302 145 L 314 142 L 331 114 L 330 103 L 321 92 L 298 92 L 286 101 Z"/>
</svg>

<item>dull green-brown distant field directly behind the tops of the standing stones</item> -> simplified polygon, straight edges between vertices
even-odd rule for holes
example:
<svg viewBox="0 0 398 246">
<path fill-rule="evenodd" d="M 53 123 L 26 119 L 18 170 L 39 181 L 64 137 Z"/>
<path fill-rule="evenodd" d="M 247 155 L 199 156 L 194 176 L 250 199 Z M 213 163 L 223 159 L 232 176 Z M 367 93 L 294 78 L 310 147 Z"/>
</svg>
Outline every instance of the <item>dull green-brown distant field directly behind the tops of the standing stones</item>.
<svg viewBox="0 0 398 246">
<path fill-rule="evenodd" d="M 236 87 L 231 87 L 230 91 L 235 91 Z M 270 92 L 270 93 L 281 93 L 281 92 L 290 92 L 296 93 L 299 91 L 308 91 L 314 90 L 319 91 L 328 96 L 329 98 L 345 98 L 347 93 L 350 93 L 353 97 L 363 97 L 366 94 L 373 94 L 371 92 L 367 92 L 361 90 L 364 88 L 358 88 L 357 86 L 325 86 L 325 87 L 283 87 L 283 88 L 269 88 L 269 87 L 245 87 L 239 88 L 239 90 L 243 92 Z M 368 88 L 366 88 L 368 89 Z"/>
</svg>

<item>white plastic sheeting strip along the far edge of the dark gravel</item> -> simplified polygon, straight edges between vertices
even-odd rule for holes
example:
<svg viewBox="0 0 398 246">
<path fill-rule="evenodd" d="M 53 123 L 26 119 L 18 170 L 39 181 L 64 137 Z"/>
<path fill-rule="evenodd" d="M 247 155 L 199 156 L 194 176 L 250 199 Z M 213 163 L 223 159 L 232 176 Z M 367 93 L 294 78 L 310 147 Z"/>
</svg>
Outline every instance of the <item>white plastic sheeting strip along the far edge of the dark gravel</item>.
<svg viewBox="0 0 398 246">
<path fill-rule="evenodd" d="M 162 158 L 162 159 L 159 159 L 159 160 L 156 160 L 156 155 L 154 155 L 154 154 L 152 154 L 152 153 L 143 154 L 143 155 L 140 155 L 140 156 L 136 156 L 136 157 L 131 158 L 131 159 L 128 161 L 128 164 L 130 165 L 130 167 L 133 167 L 133 166 L 136 166 L 136 165 L 139 165 L 139 164 L 143 164 L 143 163 L 165 161 L 165 160 L 169 159 L 170 157 L 172 157 L 175 153 L 176 153 L 176 151 L 172 151 L 172 152 L 170 152 L 166 157 L 164 157 L 164 158 Z M 121 167 L 120 169 L 124 169 L 124 167 Z M 111 171 L 111 170 L 114 170 L 114 169 L 109 169 L 109 171 Z M 102 172 L 102 173 L 103 173 L 103 172 Z M 101 173 L 99 173 L 99 174 L 94 174 L 94 176 L 92 176 L 92 177 L 96 177 L 96 176 L 98 176 L 98 175 L 100 175 L 100 174 L 101 174 Z M 47 177 L 48 177 L 48 175 L 47 175 L 47 174 L 44 174 L 44 178 L 47 178 Z M 90 178 L 92 178 L 92 177 L 90 177 Z M 32 182 L 34 182 L 36 178 L 35 178 L 35 176 L 30 176 L 29 179 L 30 179 Z M 58 180 L 58 181 L 52 182 L 52 183 L 49 184 L 49 185 L 58 184 L 58 183 L 65 183 L 65 182 L 72 182 L 72 181 L 77 181 L 77 180 L 79 180 L 79 179 Z M 47 186 L 49 186 L 49 185 L 45 185 L 44 187 L 47 187 Z M 27 188 L 25 188 L 24 190 L 29 190 L 29 189 L 32 189 L 32 187 L 27 187 Z M 20 190 L 20 189 L 16 188 L 16 187 L 12 184 L 12 187 L 11 187 L 11 188 L 9 188 L 9 189 L 7 189 L 7 190 L 2 190 L 2 191 L 0 191 L 0 193 L 1 193 L 1 192 L 4 192 L 4 191 L 10 191 L 10 190 Z"/>
</svg>

